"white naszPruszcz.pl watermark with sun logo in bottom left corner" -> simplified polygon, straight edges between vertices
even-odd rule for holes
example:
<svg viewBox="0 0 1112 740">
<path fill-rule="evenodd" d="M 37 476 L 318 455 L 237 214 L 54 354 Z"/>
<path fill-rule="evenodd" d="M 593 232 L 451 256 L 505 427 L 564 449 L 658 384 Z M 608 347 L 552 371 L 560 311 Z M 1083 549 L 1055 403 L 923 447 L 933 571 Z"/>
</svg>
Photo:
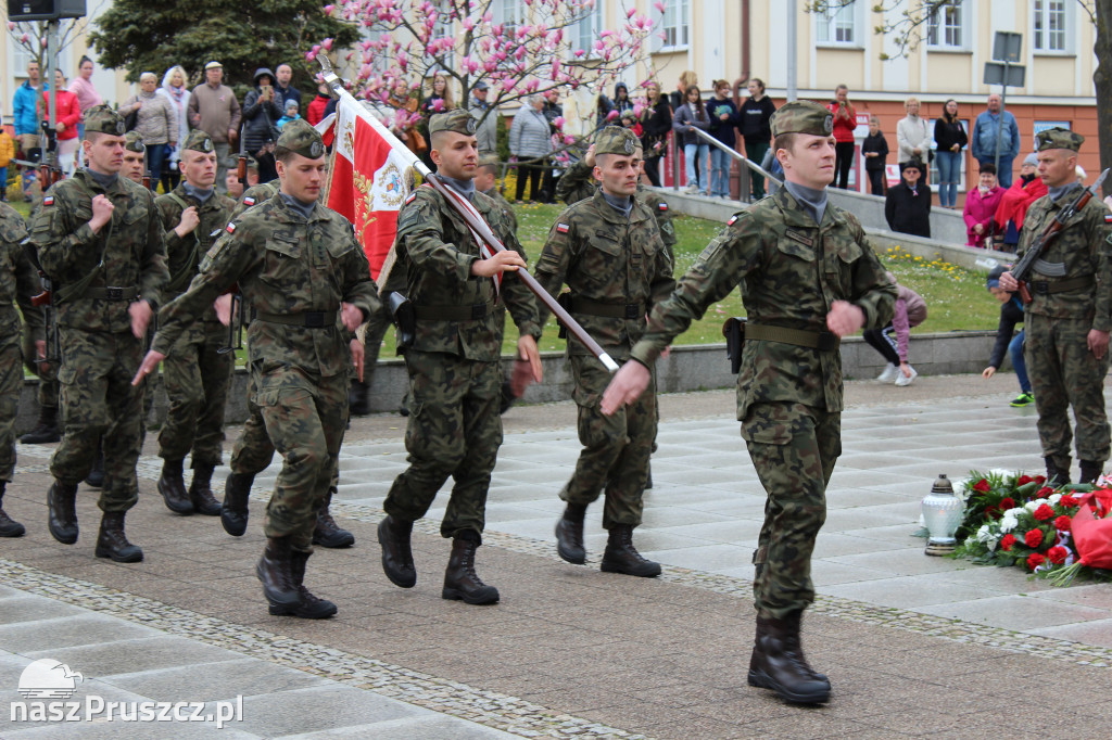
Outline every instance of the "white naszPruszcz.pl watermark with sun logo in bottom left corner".
<svg viewBox="0 0 1112 740">
<path fill-rule="evenodd" d="M 211 722 L 224 729 L 244 721 L 244 697 L 224 701 L 110 701 L 95 693 L 73 693 L 85 676 L 49 658 L 37 660 L 19 677 L 27 701 L 11 702 L 12 722 Z"/>
</svg>

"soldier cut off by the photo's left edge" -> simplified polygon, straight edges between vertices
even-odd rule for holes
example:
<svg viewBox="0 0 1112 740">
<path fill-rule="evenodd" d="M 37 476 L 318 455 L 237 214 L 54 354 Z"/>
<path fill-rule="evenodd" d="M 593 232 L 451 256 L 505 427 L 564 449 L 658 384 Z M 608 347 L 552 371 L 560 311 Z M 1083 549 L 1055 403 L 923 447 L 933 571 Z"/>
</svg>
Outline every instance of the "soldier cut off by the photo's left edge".
<svg viewBox="0 0 1112 740">
<path fill-rule="evenodd" d="M 27 334 L 34 354 L 47 351 L 42 309 L 31 303 L 42 288 L 38 271 L 21 243 L 27 227 L 16 209 L 0 203 L 0 537 L 22 537 L 23 526 L 3 510 L 3 494 L 16 470 L 16 411 L 23 384 L 22 351 L 19 341 L 19 313 L 22 311 Z M 19 311 L 16 303 L 19 303 Z"/>
</svg>

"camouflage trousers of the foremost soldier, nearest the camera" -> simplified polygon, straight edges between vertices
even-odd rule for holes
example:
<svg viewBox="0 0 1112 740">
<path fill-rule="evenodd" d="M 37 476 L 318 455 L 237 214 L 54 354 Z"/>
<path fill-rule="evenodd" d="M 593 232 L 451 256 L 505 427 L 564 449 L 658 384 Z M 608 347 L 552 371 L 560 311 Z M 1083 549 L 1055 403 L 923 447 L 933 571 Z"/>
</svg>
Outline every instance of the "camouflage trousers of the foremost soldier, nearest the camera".
<svg viewBox="0 0 1112 740">
<path fill-rule="evenodd" d="M 826 483 L 842 453 L 842 414 L 802 403 L 758 402 L 742 422 L 768 498 L 753 554 L 757 614 L 783 619 L 815 600 L 811 553 L 826 521 Z"/>
</svg>

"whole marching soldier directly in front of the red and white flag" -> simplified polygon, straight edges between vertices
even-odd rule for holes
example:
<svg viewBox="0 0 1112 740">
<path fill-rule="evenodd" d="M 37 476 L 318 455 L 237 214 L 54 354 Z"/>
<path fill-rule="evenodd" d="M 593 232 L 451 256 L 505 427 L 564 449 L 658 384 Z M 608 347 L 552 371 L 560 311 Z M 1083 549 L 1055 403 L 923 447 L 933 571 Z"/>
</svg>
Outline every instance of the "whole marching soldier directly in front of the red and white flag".
<svg viewBox="0 0 1112 740">
<path fill-rule="evenodd" d="M 317 202 L 326 167 L 320 134 L 305 121 L 290 121 L 275 156 L 280 192 L 228 224 L 189 290 L 159 314 L 136 382 L 218 296 L 239 283 L 252 316 L 247 347 L 254 401 L 284 459 L 256 574 L 271 614 L 324 619 L 336 613 L 336 604 L 309 592 L 305 568 L 347 420 L 349 332 L 378 309 L 378 296 L 351 224 Z"/>
</svg>

